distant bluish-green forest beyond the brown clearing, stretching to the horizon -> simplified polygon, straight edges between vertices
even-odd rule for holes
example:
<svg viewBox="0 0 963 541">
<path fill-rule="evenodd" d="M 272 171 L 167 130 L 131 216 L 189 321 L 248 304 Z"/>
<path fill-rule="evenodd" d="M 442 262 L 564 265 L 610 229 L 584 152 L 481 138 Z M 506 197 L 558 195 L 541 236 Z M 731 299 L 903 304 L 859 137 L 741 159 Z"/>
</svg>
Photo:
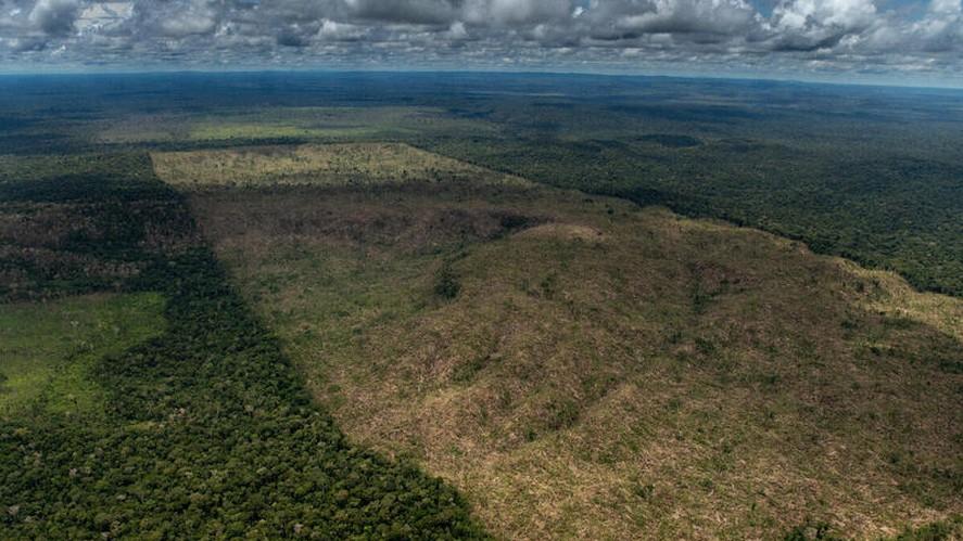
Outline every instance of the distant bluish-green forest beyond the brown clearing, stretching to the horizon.
<svg viewBox="0 0 963 541">
<path fill-rule="evenodd" d="M 963 295 L 958 90 L 264 73 L 12 76 L 0 92 L 0 155 L 401 142 L 763 229 Z"/>
</svg>

